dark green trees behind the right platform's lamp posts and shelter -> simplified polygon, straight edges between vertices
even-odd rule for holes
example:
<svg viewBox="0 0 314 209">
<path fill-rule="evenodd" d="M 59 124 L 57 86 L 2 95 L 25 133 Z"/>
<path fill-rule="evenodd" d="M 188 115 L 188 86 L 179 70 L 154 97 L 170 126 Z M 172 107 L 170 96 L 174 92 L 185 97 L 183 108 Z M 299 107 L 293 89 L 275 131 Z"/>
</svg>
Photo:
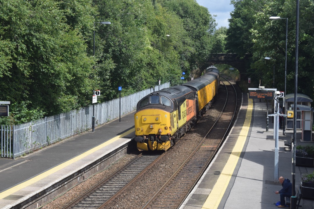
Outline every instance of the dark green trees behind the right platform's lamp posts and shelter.
<svg viewBox="0 0 314 209">
<path fill-rule="evenodd" d="M 295 83 L 295 1 L 279 0 L 267 4 L 263 0 L 234 0 L 227 29 L 226 49 L 241 56 L 252 55 L 247 77 L 262 77 L 262 86 L 284 91 L 286 73 L 286 94 L 294 92 Z M 311 63 L 314 37 L 314 3 L 300 2 L 299 51 L 298 51 L 298 93 L 314 99 L 314 74 Z M 270 20 L 278 16 L 283 19 Z M 286 19 L 288 18 L 287 67 L 285 70 Z M 271 60 L 265 60 L 270 57 Z M 302 82 L 300 82 L 302 81 Z M 258 79 L 256 79 L 258 82 Z"/>
</svg>

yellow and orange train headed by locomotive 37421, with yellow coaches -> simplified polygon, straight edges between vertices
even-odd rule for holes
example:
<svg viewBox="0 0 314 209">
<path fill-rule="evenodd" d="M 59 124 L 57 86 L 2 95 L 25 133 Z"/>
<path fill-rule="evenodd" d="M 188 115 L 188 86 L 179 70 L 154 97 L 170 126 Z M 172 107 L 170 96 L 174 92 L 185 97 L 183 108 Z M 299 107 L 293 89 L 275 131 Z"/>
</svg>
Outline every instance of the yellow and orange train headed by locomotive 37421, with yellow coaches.
<svg viewBox="0 0 314 209">
<path fill-rule="evenodd" d="M 210 66 L 197 79 L 143 97 L 134 114 L 138 150 L 173 146 L 211 106 L 219 82 L 218 69 Z"/>
</svg>

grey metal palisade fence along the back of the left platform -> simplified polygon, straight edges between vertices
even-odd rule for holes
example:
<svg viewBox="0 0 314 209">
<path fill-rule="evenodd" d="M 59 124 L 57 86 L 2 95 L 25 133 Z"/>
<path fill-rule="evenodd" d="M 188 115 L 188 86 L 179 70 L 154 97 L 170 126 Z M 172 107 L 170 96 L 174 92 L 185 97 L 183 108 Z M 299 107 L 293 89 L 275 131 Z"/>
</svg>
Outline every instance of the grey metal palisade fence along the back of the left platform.
<svg viewBox="0 0 314 209">
<path fill-rule="evenodd" d="M 136 110 L 137 102 L 169 82 L 121 97 L 121 116 Z M 120 98 L 94 104 L 95 126 L 120 117 Z M 1 157 L 15 158 L 92 128 L 93 105 L 1 129 Z M 3 126 L 2 126 L 3 127 Z"/>
</svg>

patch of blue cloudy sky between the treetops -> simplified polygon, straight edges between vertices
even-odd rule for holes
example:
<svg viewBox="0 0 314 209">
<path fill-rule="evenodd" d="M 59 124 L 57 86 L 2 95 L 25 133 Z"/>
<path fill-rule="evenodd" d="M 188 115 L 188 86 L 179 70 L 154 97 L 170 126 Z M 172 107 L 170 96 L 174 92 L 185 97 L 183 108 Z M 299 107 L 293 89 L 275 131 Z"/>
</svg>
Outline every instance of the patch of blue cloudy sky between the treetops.
<svg viewBox="0 0 314 209">
<path fill-rule="evenodd" d="M 221 26 L 229 27 L 228 19 L 230 19 L 230 12 L 233 11 L 233 4 L 230 5 L 230 0 L 196 0 L 196 2 L 208 8 L 211 15 L 217 15 L 215 17 L 217 29 Z"/>
</svg>

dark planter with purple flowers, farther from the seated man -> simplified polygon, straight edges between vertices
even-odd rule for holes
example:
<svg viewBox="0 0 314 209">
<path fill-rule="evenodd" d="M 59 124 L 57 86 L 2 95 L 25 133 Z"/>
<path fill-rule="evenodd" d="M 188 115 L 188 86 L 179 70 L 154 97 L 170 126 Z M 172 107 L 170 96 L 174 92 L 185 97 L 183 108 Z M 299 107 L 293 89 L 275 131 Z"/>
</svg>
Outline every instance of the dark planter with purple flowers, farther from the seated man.
<svg viewBox="0 0 314 209">
<path fill-rule="evenodd" d="M 298 145 L 295 148 L 295 165 L 297 166 L 314 166 L 314 146 Z"/>
</svg>

